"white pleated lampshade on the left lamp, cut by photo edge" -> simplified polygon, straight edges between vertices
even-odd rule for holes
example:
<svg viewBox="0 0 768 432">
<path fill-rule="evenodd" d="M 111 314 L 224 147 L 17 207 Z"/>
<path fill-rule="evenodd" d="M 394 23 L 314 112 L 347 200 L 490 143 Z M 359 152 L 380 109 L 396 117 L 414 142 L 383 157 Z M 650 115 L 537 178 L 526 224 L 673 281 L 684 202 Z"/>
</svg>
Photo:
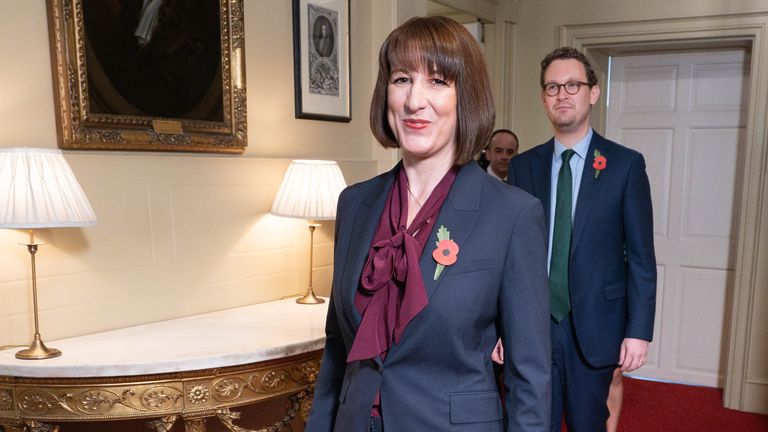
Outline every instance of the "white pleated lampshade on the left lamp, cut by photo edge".
<svg viewBox="0 0 768 432">
<path fill-rule="evenodd" d="M 61 151 L 0 148 L 0 228 L 95 224 L 93 208 Z"/>
</svg>

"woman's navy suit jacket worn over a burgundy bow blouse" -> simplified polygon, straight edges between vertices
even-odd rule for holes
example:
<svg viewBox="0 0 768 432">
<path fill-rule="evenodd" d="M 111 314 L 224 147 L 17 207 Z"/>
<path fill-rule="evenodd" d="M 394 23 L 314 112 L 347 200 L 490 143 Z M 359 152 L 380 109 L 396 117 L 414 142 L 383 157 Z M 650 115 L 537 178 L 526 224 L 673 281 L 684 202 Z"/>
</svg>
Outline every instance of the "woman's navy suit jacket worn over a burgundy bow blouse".
<svg viewBox="0 0 768 432">
<path fill-rule="evenodd" d="M 397 167 L 339 197 L 326 344 L 308 432 L 364 432 L 381 391 L 384 430 L 548 431 L 549 290 L 538 200 L 463 166 L 421 255 L 429 304 L 386 360 L 346 363 L 360 324 L 355 292 Z M 458 261 L 434 280 L 444 225 Z M 505 351 L 506 424 L 491 351 Z M 511 389 L 511 390 L 510 390 Z"/>
</svg>

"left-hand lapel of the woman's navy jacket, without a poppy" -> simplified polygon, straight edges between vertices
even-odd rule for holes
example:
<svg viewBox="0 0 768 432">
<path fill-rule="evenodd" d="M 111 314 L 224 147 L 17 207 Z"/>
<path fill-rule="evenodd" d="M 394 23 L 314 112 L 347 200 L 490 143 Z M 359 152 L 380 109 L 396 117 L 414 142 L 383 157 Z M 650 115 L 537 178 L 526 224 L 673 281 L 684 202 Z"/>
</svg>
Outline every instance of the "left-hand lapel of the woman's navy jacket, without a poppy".
<svg viewBox="0 0 768 432">
<path fill-rule="evenodd" d="M 389 192 L 392 190 L 392 183 L 400 164 L 390 170 L 381 181 L 371 188 L 371 191 L 363 199 L 355 215 L 354 225 L 350 234 L 350 246 L 347 251 L 346 265 L 344 275 L 342 276 L 341 286 L 344 291 L 345 309 L 351 315 L 350 322 L 354 328 L 360 326 L 362 319 L 360 313 L 355 309 L 355 293 L 360 285 L 360 276 L 363 273 L 363 265 L 368 258 L 368 251 L 371 248 L 373 235 L 376 233 L 376 227 L 379 225 L 381 212 L 384 210 L 384 203 L 387 200 Z"/>
</svg>

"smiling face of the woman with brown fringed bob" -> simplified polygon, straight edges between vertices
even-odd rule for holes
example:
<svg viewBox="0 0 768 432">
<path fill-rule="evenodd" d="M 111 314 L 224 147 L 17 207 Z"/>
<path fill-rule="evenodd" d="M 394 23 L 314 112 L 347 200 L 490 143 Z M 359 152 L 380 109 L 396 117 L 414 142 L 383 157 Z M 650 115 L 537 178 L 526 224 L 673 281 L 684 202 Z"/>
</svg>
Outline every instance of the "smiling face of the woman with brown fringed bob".
<svg viewBox="0 0 768 432">
<path fill-rule="evenodd" d="M 453 161 L 456 88 L 440 74 L 392 72 L 387 86 L 387 119 L 404 157 Z"/>
</svg>

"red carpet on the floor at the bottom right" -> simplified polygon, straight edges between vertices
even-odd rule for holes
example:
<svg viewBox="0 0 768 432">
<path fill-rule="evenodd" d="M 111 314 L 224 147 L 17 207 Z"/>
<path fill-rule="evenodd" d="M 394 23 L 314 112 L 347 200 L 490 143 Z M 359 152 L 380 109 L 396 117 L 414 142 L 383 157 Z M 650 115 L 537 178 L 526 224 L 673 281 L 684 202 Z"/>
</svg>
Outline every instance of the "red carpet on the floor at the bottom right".
<svg viewBox="0 0 768 432">
<path fill-rule="evenodd" d="M 624 377 L 619 432 L 760 432 L 768 415 L 723 407 L 723 390 Z"/>
</svg>

